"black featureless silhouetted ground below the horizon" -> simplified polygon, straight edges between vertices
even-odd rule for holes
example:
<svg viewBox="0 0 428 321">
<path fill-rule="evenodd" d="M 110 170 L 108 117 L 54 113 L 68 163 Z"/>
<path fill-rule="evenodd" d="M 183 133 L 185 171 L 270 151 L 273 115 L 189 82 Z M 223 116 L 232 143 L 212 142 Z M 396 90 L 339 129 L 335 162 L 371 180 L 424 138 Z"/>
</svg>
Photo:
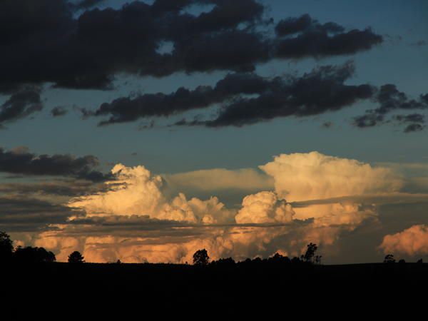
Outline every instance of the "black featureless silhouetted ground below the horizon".
<svg viewBox="0 0 428 321">
<path fill-rule="evenodd" d="M 427 317 L 428 264 L 3 265 L 1 292 L 9 297 L 2 301 L 4 307 L 36 304 L 37 312 L 59 307 L 68 315 L 86 314 L 82 309 L 89 308 L 98 316 L 148 310 L 159 315 L 283 310 L 316 317 L 340 308 L 347 310 L 346 318 L 368 310 L 387 315 L 407 309 Z M 11 311 L 16 319 L 4 320 L 19 320 L 17 315 L 29 312 Z"/>
</svg>

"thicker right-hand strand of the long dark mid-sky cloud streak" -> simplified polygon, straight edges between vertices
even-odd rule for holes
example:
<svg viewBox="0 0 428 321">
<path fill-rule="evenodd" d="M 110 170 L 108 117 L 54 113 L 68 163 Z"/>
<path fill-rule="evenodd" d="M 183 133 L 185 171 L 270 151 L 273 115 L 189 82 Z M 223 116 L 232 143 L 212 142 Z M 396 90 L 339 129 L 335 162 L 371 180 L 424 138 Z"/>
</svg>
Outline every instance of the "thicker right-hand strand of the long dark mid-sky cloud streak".
<svg viewBox="0 0 428 321">
<path fill-rule="evenodd" d="M 277 117 L 313 116 L 337 111 L 360 99 L 372 97 L 374 88 L 367 84 L 345 85 L 354 66 L 322 66 L 302 77 L 274 78 L 269 86 L 258 91 L 255 98 L 240 96 L 225 104 L 218 117 L 210 121 L 181 122 L 177 125 L 204 125 L 208 127 L 244 126 Z"/>
</svg>

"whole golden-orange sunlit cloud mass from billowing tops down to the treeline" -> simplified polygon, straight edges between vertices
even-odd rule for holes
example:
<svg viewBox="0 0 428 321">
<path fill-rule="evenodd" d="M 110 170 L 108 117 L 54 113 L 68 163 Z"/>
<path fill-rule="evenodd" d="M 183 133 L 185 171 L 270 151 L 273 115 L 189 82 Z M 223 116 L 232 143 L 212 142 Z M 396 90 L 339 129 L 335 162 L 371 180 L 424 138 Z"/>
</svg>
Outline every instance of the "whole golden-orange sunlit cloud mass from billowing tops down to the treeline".
<svg viewBox="0 0 428 321">
<path fill-rule="evenodd" d="M 330 198 L 391 193 L 402 186 L 392 170 L 317 152 L 281 154 L 260 168 L 272 177 L 275 189 L 247 195 L 238 208 L 226 208 L 215 196 L 169 197 L 160 175 L 143 165 L 115 165 L 111 173 L 116 179 L 107 183 L 107 191 L 68 203 L 84 215 L 41 233 L 36 244 L 56 250 L 58 260 L 76 248 L 90 262 L 185 263 L 199 248 L 206 248 L 213 259 L 277 251 L 299 255 L 308 242 L 328 247 L 342 233 L 377 219 L 372 204 Z M 248 173 L 254 180 L 254 173 Z M 322 201 L 304 204 L 314 199 Z M 114 231 L 106 230 L 108 225 Z"/>
</svg>

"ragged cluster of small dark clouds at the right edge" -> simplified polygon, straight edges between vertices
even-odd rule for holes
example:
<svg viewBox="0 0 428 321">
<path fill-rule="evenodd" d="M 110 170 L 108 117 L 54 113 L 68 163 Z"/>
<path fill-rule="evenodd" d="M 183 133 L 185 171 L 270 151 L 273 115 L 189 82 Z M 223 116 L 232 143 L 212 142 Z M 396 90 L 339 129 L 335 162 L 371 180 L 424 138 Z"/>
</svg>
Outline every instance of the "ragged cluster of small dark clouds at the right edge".
<svg viewBox="0 0 428 321">
<path fill-rule="evenodd" d="M 387 114 L 395 111 L 409 111 L 414 109 L 428 109 L 428 94 L 420 95 L 419 99 L 412 99 L 406 93 L 399 91 L 394 84 L 388 83 L 379 88 L 374 101 L 379 103 L 379 107 L 367 110 L 365 115 L 354 118 L 354 124 L 360 128 L 367 128 L 380 125 L 385 122 Z M 399 123 L 410 123 L 404 129 L 405 133 L 421 131 L 424 126 L 424 116 L 421 114 L 410 114 L 407 116 L 397 115 L 393 120 Z"/>
</svg>

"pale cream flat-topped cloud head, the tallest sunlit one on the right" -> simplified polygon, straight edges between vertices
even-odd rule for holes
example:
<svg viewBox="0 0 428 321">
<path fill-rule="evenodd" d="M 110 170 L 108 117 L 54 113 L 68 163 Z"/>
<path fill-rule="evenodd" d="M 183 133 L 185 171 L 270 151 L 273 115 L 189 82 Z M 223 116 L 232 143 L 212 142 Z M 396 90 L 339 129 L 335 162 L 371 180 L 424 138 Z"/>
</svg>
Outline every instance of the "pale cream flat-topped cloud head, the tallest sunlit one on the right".
<svg viewBox="0 0 428 321">
<path fill-rule="evenodd" d="M 388 168 L 318 152 L 280 154 L 259 167 L 272 176 L 276 193 L 289 202 L 394 192 L 402 186 Z"/>
</svg>

